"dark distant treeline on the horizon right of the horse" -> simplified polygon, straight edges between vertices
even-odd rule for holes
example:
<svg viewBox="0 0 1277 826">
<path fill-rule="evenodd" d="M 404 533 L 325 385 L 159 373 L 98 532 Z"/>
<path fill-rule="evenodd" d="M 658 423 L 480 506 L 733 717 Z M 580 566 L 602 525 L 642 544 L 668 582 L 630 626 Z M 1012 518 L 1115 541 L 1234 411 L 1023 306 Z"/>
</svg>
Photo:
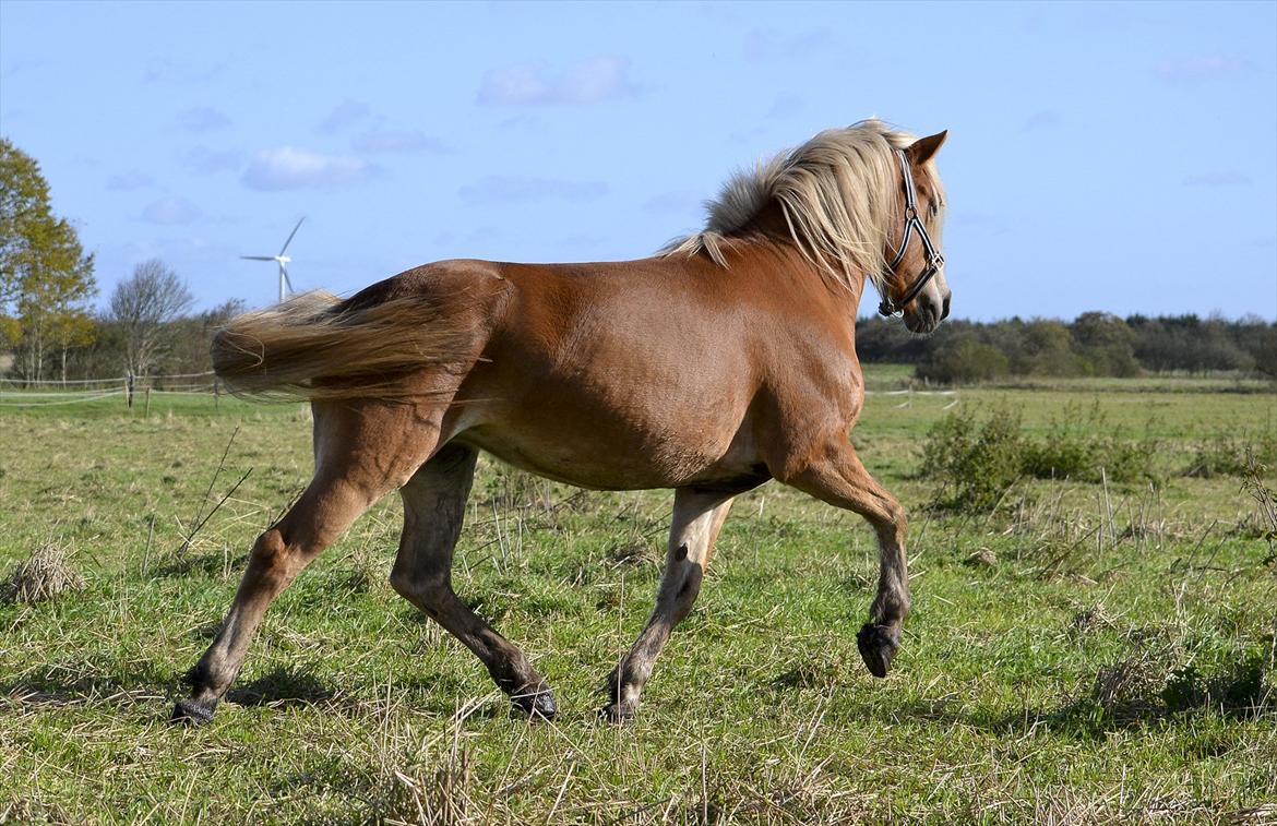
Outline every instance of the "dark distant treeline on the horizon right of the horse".
<svg viewBox="0 0 1277 826">
<path fill-rule="evenodd" d="M 1212 373 L 1277 378 L 1277 324 L 1198 315 L 1083 313 L 1061 322 L 1010 318 L 950 320 L 928 337 L 899 322 L 862 318 L 856 327 L 862 361 L 916 365 L 918 378 L 944 384 L 1006 377 Z"/>
</svg>

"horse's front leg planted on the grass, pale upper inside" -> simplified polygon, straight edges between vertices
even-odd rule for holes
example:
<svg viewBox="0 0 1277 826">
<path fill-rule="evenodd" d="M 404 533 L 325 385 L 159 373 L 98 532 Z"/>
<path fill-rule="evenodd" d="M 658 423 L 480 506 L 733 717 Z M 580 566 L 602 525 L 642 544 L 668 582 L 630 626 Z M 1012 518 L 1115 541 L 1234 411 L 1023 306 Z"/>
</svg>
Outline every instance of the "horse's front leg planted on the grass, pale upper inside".
<svg viewBox="0 0 1277 826">
<path fill-rule="evenodd" d="M 701 590 L 701 578 L 714 553 L 714 540 L 732 507 L 730 493 L 679 488 L 674 492 L 674 517 L 669 529 L 665 572 L 656 592 L 656 606 L 630 654 L 608 677 L 612 702 L 603 714 L 613 723 L 633 717 L 638 695 L 651 677 L 661 646 L 688 612 Z"/>
</svg>

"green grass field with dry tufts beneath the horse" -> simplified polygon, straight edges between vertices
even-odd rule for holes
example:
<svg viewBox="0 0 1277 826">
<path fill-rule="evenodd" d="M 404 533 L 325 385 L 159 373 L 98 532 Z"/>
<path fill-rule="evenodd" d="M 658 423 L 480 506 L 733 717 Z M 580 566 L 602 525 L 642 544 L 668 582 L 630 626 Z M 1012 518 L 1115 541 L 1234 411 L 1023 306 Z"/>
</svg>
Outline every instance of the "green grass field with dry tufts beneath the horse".
<svg viewBox="0 0 1277 826">
<path fill-rule="evenodd" d="M 599 688 L 651 608 L 668 493 L 480 465 L 456 586 L 554 686 L 553 724 L 511 715 L 386 585 L 391 497 L 276 603 L 213 723 L 174 728 L 248 548 L 309 477 L 308 412 L 0 409 L 0 574 L 52 544 L 86 577 L 0 604 L 0 820 L 1273 822 L 1277 562 L 1237 475 L 1184 472 L 1272 442 L 1277 396 L 1131 387 L 960 391 L 954 411 L 1016 409 L 1038 438 L 1094 407 L 1153 452 L 1154 479 L 1023 481 L 992 516 L 926 509 L 921 448 L 954 398 L 872 396 L 854 440 L 912 514 L 896 669 L 856 650 L 872 532 L 769 484 L 624 728 Z"/>
</svg>

